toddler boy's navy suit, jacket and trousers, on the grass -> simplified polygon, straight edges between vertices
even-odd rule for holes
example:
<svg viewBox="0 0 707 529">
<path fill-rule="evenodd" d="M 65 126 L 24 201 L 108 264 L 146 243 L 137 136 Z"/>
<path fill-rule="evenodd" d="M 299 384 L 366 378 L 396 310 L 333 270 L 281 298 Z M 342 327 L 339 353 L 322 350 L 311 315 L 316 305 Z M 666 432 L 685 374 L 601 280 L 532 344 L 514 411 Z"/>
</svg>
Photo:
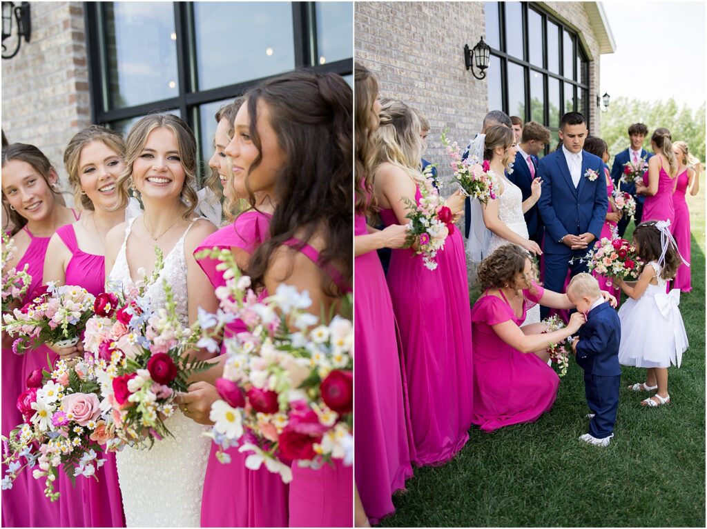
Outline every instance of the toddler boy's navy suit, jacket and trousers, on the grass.
<svg viewBox="0 0 707 529">
<path fill-rule="evenodd" d="M 617 311 L 608 302 L 590 310 L 587 322 L 579 330 L 576 359 L 584 369 L 587 404 L 595 414 L 589 422 L 589 433 L 597 439 L 611 435 L 617 420 L 620 342 L 621 321 Z"/>
</svg>

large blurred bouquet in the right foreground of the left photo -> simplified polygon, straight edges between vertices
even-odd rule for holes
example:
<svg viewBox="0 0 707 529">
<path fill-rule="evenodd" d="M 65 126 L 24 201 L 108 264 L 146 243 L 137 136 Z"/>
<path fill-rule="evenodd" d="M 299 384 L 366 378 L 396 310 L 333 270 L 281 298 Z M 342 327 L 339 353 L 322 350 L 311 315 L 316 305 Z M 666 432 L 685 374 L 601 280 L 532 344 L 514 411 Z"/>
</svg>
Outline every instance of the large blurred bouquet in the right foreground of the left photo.
<svg viewBox="0 0 707 529">
<path fill-rule="evenodd" d="M 212 254 L 218 258 L 218 251 Z M 228 462 L 223 448 L 240 445 L 248 453 L 245 465 L 262 464 L 290 482 L 290 463 L 320 468 L 332 459 L 353 462 L 354 380 L 351 357 L 354 329 L 349 319 L 334 316 L 322 323 L 305 311 L 308 292 L 279 285 L 259 302 L 250 278 L 241 276 L 232 258 L 226 287 L 216 295 L 221 307 L 233 311 L 249 331 L 226 340 L 228 359 L 216 389 L 223 400 L 211 407 L 219 445 L 218 458 Z M 205 328 L 204 338 L 218 333 Z"/>
</svg>

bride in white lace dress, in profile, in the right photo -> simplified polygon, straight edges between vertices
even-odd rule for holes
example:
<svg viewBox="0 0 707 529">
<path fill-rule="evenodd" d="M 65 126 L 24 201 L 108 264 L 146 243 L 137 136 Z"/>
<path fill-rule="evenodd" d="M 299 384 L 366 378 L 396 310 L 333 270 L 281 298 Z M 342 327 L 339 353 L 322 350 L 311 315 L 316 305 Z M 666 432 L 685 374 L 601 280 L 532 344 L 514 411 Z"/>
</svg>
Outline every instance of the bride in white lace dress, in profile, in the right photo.
<svg viewBox="0 0 707 529">
<path fill-rule="evenodd" d="M 512 242 L 529 254 L 542 254 L 540 246 L 528 237 L 523 213 L 532 208 L 540 198 L 542 180 L 536 178 L 531 184 L 532 194 L 522 200 L 518 186 L 506 178 L 510 160 L 515 160 L 515 137 L 513 130 L 505 125 L 492 126 L 486 131 L 484 160 L 489 160 L 489 175 L 496 184 L 496 198 L 486 206 L 479 201 L 472 204 L 472 234 L 469 234 L 467 251 L 472 261 L 481 261 L 491 252 Z M 525 324 L 540 321 L 540 307 L 535 305 L 528 311 Z"/>
</svg>

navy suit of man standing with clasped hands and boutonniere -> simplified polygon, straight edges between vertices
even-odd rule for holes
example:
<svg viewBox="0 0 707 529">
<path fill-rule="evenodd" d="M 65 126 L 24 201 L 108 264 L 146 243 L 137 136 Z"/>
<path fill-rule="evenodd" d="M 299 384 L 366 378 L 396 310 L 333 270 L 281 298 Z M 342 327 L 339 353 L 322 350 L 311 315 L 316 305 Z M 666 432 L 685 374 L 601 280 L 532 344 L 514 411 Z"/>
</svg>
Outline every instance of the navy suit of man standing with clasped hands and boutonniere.
<svg viewBox="0 0 707 529">
<path fill-rule="evenodd" d="M 585 177 L 588 169 L 599 177 L 594 181 Z M 543 286 L 562 292 L 568 268 L 573 277 L 588 271 L 587 263 L 579 259 L 594 246 L 592 241 L 586 249 L 572 250 L 561 242 L 562 237 L 589 232 L 598 240 L 602 233 L 609 206 L 604 164 L 600 157 L 583 150 L 579 184 L 575 188 L 565 155 L 559 148 L 540 160 L 535 175 L 542 179 L 542 195 L 537 204 L 545 227 Z M 570 263 L 572 258 L 575 261 Z M 548 311 L 547 307 L 540 307 L 540 316 L 545 318 Z"/>
</svg>

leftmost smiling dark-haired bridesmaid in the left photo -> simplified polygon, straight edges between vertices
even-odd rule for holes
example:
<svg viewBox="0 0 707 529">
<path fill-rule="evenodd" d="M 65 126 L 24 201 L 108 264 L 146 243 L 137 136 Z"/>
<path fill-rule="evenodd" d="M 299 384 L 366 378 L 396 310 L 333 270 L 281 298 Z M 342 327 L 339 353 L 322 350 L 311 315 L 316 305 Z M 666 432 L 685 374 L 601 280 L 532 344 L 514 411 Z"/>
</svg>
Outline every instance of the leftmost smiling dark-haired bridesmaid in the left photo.
<svg viewBox="0 0 707 529">
<path fill-rule="evenodd" d="M 32 283 L 22 304 L 34 298 L 34 291 L 43 284 L 42 271 L 49 239 L 63 225 L 74 222 L 78 214 L 57 203 L 57 171 L 47 157 L 34 145 L 13 143 L 2 150 L 2 202 L 8 212 L 16 253 L 7 264 L 21 270 L 29 265 Z M 25 379 L 34 369 L 47 369 L 47 356 L 54 363 L 57 355 L 47 347 L 40 347 L 25 355 L 15 355 L 13 339 L 4 335 L 2 347 L 2 434 L 8 435 L 22 422 L 16 400 L 25 391 Z M 29 471 L 28 471 L 29 470 Z M 61 490 L 60 487 L 55 487 Z M 4 526 L 50 527 L 59 521 L 59 506 L 74 501 L 67 491 L 62 499 L 50 502 L 45 497 L 45 480 L 31 477 L 25 469 L 12 489 L 2 494 Z M 80 501 L 80 497 L 78 497 Z"/>
</svg>

